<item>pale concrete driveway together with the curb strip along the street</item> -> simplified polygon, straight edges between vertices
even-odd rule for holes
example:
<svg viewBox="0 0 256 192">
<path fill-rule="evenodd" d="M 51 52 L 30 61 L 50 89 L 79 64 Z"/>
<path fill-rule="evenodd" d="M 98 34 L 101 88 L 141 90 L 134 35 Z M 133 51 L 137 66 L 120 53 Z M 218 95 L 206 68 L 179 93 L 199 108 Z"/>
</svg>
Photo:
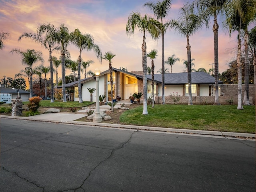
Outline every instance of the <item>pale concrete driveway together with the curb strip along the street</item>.
<svg viewBox="0 0 256 192">
<path fill-rule="evenodd" d="M 188 135 L 201 135 L 208 137 L 219 137 L 226 139 L 246 139 L 255 141 L 255 134 L 250 133 L 233 133 L 233 132 L 221 132 L 221 131 L 201 131 L 201 130 L 191 130 L 191 129 L 172 129 L 172 128 L 164 128 L 164 127 L 146 127 L 146 126 L 138 126 L 138 125 L 122 125 L 122 124 L 110 124 L 104 123 L 92 123 L 92 122 L 82 122 L 76 121 L 76 119 L 80 119 L 82 117 L 86 117 L 85 114 L 76 114 L 76 113 L 44 113 L 41 115 L 35 115 L 31 117 L 15 117 L 8 115 L 0 115 L 0 118 L 5 119 L 22 119 L 22 120 L 30 120 L 30 121 L 41 121 L 41 122 L 52 122 L 52 123 L 68 123 L 68 124 L 76 124 L 76 125 L 90 125 L 90 126 L 98 126 L 98 127 L 109 127 L 116 129 L 133 129 L 137 131 L 158 131 L 158 132 L 166 132 L 166 133 L 174 133 L 174 134 L 188 134 Z"/>
</svg>

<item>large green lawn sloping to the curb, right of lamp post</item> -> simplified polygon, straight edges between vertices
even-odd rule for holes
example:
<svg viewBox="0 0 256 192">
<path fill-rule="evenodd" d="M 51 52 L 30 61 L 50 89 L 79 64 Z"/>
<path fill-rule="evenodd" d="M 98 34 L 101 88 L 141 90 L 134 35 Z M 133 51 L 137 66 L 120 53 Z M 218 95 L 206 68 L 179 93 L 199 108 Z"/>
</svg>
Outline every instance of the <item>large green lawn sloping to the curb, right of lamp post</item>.
<svg viewBox="0 0 256 192">
<path fill-rule="evenodd" d="M 236 105 L 155 105 L 148 106 L 148 115 L 142 115 L 143 106 L 125 111 L 120 123 L 151 127 L 197 129 L 255 133 L 255 106 Z"/>
</svg>

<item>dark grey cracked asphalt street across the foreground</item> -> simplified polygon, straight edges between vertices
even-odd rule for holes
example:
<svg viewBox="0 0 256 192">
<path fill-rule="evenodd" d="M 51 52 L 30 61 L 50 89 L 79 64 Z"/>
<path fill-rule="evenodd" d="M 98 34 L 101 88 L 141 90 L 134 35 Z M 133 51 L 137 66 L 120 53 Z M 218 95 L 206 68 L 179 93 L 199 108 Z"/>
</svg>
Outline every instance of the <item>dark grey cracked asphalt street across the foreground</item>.
<svg viewBox="0 0 256 192">
<path fill-rule="evenodd" d="M 255 141 L 0 119 L 1 192 L 255 192 Z"/>
</svg>

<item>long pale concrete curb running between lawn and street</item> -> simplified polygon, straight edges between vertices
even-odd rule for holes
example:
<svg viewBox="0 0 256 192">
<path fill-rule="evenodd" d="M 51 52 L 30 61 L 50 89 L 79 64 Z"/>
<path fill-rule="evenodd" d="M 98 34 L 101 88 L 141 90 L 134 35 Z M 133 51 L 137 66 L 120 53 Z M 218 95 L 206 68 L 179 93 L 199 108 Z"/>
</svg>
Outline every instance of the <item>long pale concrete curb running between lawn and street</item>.
<svg viewBox="0 0 256 192">
<path fill-rule="evenodd" d="M 251 133 L 202 131 L 202 130 L 192 130 L 192 129 L 173 129 L 173 128 L 164 128 L 164 127 L 147 127 L 147 126 L 122 125 L 122 124 L 111 124 L 111 123 L 92 123 L 92 122 L 82 122 L 82 121 L 47 120 L 47 119 L 30 118 L 30 117 L 16 117 L 16 116 L 9 116 L 9 115 L 0 115 L 0 118 L 40 121 L 40 122 L 49 122 L 49 123 L 66 123 L 66 124 L 73 124 L 73 125 L 90 125 L 90 126 L 97 126 L 97 127 L 110 127 L 110 128 L 116 128 L 116 129 L 130 129 L 130 130 L 137 130 L 137 131 L 158 131 L 158 132 L 169 132 L 169 133 L 185 133 L 185 134 L 193 134 L 193 135 L 221 136 L 221 137 L 226 137 L 227 139 L 234 139 L 234 138 L 239 139 L 239 137 L 241 137 L 241 138 L 249 138 L 250 140 L 255 140 L 255 134 L 251 134 Z"/>
</svg>

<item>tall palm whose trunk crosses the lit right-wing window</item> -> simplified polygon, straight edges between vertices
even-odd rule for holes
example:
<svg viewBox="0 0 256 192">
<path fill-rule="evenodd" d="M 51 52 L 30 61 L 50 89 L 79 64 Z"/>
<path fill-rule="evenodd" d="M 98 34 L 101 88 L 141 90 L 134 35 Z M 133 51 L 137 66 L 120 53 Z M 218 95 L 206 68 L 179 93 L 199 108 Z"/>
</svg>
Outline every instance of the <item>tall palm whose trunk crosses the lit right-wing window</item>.
<svg viewBox="0 0 256 192">
<path fill-rule="evenodd" d="M 178 20 L 170 20 L 167 27 L 170 26 L 171 29 L 176 30 L 179 34 L 186 37 L 187 40 L 187 55 L 188 55 L 188 105 L 193 105 L 192 103 L 192 93 L 191 93 L 191 46 L 189 44 L 190 35 L 198 31 L 202 24 L 208 24 L 208 21 L 200 13 L 194 13 L 193 5 L 186 2 L 179 11 Z"/>
</svg>

